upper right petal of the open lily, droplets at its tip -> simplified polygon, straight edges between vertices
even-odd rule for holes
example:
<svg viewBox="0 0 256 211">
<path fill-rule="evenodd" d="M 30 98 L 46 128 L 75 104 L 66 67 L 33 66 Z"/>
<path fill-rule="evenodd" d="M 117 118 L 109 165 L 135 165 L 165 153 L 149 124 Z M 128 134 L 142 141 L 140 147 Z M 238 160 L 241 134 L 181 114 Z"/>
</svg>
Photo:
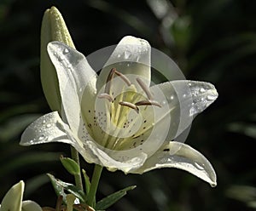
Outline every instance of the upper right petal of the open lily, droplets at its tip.
<svg viewBox="0 0 256 211">
<path fill-rule="evenodd" d="M 171 126 L 167 140 L 173 140 L 189 128 L 193 119 L 204 111 L 218 97 L 218 92 L 212 83 L 177 80 L 160 83 L 150 88 L 154 93 L 160 88 L 166 96 L 166 102 L 171 112 Z M 163 112 L 162 117 L 167 113 Z"/>
</svg>

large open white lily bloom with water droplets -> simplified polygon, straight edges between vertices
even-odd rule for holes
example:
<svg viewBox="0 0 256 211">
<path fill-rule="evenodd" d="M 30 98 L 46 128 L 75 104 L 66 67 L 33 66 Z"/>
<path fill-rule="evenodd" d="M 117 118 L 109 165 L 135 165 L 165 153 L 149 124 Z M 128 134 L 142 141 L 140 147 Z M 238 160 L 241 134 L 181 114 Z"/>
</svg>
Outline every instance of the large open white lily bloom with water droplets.
<svg viewBox="0 0 256 211">
<path fill-rule="evenodd" d="M 120 41 L 100 76 L 83 54 L 63 43 L 49 43 L 48 53 L 57 71 L 62 114 L 38 118 L 20 145 L 63 142 L 88 163 L 111 171 L 180 168 L 216 185 L 207 158 L 175 141 L 217 99 L 211 83 L 178 80 L 150 87 L 151 47 L 131 36 Z"/>
</svg>

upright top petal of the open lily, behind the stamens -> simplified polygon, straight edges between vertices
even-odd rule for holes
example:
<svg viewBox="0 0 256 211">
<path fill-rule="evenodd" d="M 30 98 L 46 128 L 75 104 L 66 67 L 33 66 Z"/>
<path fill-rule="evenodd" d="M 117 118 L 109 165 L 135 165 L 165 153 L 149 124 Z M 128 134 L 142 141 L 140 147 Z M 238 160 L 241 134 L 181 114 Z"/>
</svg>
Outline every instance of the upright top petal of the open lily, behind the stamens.
<svg viewBox="0 0 256 211">
<path fill-rule="evenodd" d="M 102 88 L 106 83 L 112 68 L 116 68 L 124 75 L 131 74 L 142 77 L 144 83 L 149 86 L 151 79 L 150 54 L 151 47 L 148 41 L 132 36 L 123 37 L 102 68 L 97 88 Z M 131 83 L 136 84 L 136 81 L 131 80 Z"/>
</svg>

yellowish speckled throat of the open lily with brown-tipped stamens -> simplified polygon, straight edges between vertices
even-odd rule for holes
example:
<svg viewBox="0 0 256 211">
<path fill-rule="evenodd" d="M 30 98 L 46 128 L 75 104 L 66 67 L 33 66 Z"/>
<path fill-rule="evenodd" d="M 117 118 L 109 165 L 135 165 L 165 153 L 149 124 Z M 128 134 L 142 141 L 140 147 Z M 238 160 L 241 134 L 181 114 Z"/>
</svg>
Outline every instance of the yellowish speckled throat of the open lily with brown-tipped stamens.
<svg viewBox="0 0 256 211">
<path fill-rule="evenodd" d="M 155 123 L 154 109 L 161 107 L 141 77 L 112 68 L 97 94 L 95 111 L 90 111 L 93 123 L 87 128 L 102 147 L 123 151 L 140 146 L 142 150 Z"/>
</svg>

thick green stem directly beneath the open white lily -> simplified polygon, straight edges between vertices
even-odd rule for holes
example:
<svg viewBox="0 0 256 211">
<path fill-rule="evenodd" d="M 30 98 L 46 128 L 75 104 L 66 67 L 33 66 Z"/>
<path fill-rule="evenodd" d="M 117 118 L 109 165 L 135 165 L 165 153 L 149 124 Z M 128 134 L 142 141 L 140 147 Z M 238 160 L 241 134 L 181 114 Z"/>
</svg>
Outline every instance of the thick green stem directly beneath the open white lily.
<svg viewBox="0 0 256 211">
<path fill-rule="evenodd" d="M 92 179 L 90 183 L 90 191 L 87 198 L 87 202 L 90 207 L 93 207 L 93 202 L 96 197 L 96 191 L 99 185 L 99 180 L 101 178 L 102 169 L 103 167 L 97 164 L 94 167 L 94 171 L 93 171 Z"/>
</svg>

